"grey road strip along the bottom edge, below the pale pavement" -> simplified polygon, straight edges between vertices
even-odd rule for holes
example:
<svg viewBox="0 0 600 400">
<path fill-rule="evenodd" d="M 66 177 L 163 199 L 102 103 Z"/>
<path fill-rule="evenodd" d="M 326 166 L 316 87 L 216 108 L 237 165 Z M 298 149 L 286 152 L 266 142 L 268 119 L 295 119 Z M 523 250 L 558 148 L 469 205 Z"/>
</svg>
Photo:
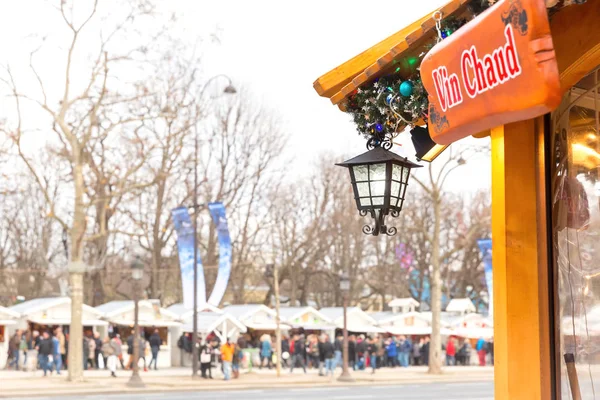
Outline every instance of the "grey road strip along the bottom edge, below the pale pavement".
<svg viewBox="0 0 600 400">
<path fill-rule="evenodd" d="M 493 382 L 28 397 L 14 400 L 493 400 Z"/>
</svg>

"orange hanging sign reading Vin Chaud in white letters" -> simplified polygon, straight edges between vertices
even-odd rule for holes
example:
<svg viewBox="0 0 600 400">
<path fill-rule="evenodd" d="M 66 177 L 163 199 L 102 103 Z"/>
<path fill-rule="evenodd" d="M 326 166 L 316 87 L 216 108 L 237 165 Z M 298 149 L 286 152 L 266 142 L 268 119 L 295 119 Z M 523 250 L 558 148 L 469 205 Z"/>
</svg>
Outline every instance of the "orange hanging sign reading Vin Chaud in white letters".
<svg viewBox="0 0 600 400">
<path fill-rule="evenodd" d="M 500 0 L 423 58 L 429 132 L 451 144 L 561 100 L 545 0 Z"/>
</svg>

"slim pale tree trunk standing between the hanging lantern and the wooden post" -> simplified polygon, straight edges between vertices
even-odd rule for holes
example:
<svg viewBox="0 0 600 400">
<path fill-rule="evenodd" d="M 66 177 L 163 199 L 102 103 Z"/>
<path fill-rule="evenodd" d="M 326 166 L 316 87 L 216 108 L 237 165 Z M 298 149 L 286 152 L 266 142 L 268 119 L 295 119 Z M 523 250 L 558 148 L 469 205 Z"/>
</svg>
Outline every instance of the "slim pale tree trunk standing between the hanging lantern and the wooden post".
<svg viewBox="0 0 600 400">
<path fill-rule="evenodd" d="M 440 276 L 440 207 L 441 198 L 436 191 L 433 200 L 433 243 L 431 249 L 431 343 L 429 347 L 429 373 L 442 373 L 442 337 L 440 335 L 442 319 L 442 279 Z"/>
</svg>

